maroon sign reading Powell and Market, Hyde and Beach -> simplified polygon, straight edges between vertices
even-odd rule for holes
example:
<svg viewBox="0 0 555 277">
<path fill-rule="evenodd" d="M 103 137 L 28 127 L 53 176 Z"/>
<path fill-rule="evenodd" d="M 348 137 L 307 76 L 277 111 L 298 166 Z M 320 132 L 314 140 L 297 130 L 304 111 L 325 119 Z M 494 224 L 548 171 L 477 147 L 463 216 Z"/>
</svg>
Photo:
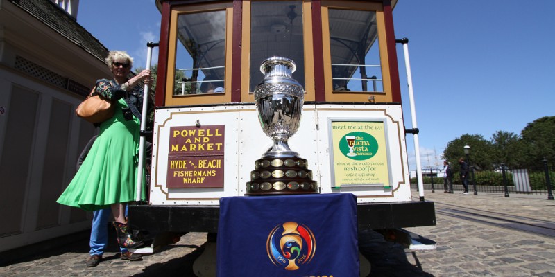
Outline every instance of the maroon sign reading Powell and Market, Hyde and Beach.
<svg viewBox="0 0 555 277">
<path fill-rule="evenodd" d="M 170 128 L 168 188 L 223 188 L 225 125 Z"/>
</svg>

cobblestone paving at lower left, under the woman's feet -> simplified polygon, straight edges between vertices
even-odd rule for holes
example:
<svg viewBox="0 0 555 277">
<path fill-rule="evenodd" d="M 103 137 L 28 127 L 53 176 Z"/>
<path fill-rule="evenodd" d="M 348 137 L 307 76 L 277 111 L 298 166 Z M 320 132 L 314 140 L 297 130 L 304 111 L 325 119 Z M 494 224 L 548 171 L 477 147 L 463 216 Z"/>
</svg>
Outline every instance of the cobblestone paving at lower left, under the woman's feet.
<svg viewBox="0 0 555 277">
<path fill-rule="evenodd" d="M 192 265 L 202 253 L 206 233 L 187 233 L 176 244 L 135 262 L 121 260 L 115 237 L 110 238 L 114 242 L 108 242 L 103 260 L 96 267 L 85 265 L 89 257 L 89 239 L 85 238 L 0 267 L 0 276 L 195 276 Z"/>
</svg>

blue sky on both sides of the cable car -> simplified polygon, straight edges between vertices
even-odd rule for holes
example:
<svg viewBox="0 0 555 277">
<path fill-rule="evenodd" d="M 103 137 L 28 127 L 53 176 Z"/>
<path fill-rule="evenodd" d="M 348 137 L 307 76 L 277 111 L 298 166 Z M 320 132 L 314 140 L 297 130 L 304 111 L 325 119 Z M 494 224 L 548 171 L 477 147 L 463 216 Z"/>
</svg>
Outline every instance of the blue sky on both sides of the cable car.
<svg viewBox="0 0 555 277">
<path fill-rule="evenodd" d="M 555 116 L 554 11 L 552 0 L 399 0 L 395 36 L 409 39 L 422 168 L 441 167 L 445 146 L 462 134 L 520 134 L 527 123 Z M 77 21 L 110 50 L 128 51 L 135 67 L 146 65 L 146 42 L 160 34 L 154 0 L 80 1 Z M 411 128 L 402 45 L 397 49 Z M 415 170 L 412 135 L 407 150 Z"/>
</svg>

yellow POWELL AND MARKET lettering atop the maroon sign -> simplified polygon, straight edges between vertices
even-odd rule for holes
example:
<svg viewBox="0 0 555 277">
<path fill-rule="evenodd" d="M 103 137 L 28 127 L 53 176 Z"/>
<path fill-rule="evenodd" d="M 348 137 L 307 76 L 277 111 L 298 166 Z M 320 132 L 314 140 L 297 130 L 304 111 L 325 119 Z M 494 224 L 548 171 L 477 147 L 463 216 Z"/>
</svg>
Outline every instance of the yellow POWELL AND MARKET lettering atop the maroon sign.
<svg viewBox="0 0 555 277">
<path fill-rule="evenodd" d="M 220 151 L 223 143 L 211 143 L 214 136 L 222 136 L 219 129 L 184 129 L 174 130 L 173 137 L 182 137 L 185 141 L 171 145 L 171 151 Z"/>
</svg>

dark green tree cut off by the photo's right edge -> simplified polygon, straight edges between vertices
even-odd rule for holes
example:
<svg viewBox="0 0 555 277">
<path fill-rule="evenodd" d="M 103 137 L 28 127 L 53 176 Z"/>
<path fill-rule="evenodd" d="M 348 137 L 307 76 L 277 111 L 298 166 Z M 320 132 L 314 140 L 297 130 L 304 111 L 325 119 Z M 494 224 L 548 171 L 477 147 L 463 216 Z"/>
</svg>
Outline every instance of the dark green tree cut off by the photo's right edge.
<svg viewBox="0 0 555 277">
<path fill-rule="evenodd" d="M 545 116 L 528 123 L 520 137 L 527 151 L 522 160 L 529 168 L 542 168 L 543 159 L 551 166 L 555 164 L 555 116 Z"/>
</svg>

